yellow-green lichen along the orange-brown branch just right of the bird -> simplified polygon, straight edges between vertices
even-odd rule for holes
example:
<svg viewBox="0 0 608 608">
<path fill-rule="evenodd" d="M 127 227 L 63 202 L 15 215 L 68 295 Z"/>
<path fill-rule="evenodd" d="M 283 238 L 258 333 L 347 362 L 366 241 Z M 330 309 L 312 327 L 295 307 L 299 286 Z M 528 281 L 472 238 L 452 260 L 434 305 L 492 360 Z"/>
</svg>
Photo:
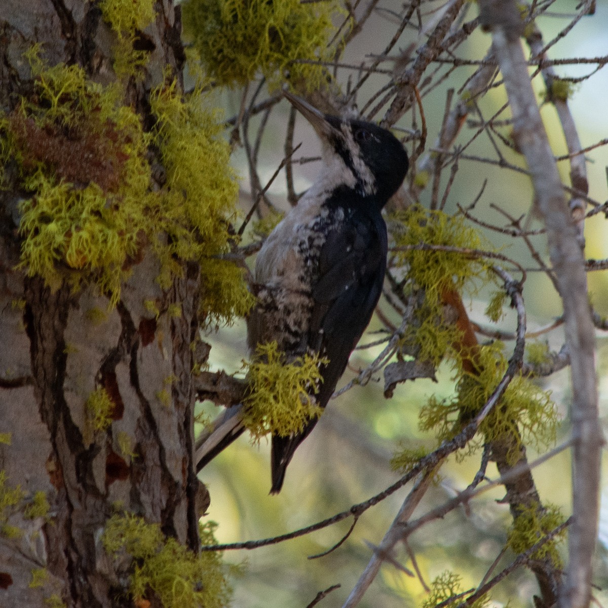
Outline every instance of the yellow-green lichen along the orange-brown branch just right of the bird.
<svg viewBox="0 0 608 608">
<path fill-rule="evenodd" d="M 447 359 L 455 371 L 456 390 L 449 399 L 432 396 L 420 412 L 420 429 L 433 431 L 438 443 L 454 438 L 474 420 L 506 373 L 508 361 L 503 345 L 463 345 L 463 331 L 444 319 L 450 294 L 475 291 L 496 284 L 490 264 L 483 259 L 484 243 L 478 233 L 466 226 L 461 215 L 427 211 L 412 206 L 393 216 L 396 266 L 408 268 L 406 295 L 422 295 L 415 322 L 404 334 L 404 343 L 415 345 L 416 358 L 439 365 Z M 433 246 L 438 246 L 433 249 Z M 502 314 L 504 290 L 496 292 L 486 309 L 491 319 Z M 476 438 L 458 455 L 476 451 L 482 444 L 501 437 L 513 437 L 508 460 L 516 461 L 522 443 L 546 447 L 556 438 L 558 416 L 550 393 L 517 373 L 500 403 L 485 417 Z M 407 470 L 413 454 L 404 451 L 393 459 L 395 466 Z"/>
</svg>

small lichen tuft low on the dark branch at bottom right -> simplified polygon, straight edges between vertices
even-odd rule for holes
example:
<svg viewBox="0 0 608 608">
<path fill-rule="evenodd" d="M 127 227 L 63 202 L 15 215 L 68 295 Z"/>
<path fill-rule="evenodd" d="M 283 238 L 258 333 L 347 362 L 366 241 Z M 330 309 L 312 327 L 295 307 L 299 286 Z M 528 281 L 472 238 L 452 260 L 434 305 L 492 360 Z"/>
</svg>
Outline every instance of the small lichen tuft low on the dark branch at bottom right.
<svg viewBox="0 0 608 608">
<path fill-rule="evenodd" d="M 533 503 L 524 508 L 513 520 L 513 526 L 509 531 L 506 544 L 515 553 L 525 553 L 564 521 L 565 518 L 558 506 L 551 504 L 541 506 L 539 503 Z M 564 564 L 559 556 L 557 542 L 564 537 L 565 529 L 534 551 L 530 559 L 544 560 L 548 558 L 553 566 L 560 570 Z"/>
</svg>

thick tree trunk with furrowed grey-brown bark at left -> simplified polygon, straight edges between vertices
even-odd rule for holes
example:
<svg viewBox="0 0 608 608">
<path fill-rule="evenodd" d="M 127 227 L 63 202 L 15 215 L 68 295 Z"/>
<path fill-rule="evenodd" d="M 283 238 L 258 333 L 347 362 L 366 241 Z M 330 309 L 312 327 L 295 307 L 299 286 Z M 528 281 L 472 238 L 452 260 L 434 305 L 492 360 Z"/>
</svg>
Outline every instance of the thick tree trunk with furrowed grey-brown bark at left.
<svg viewBox="0 0 608 608">
<path fill-rule="evenodd" d="M 151 87 L 167 65 L 181 78 L 183 61 L 179 10 L 171 0 L 154 9 L 156 20 L 138 33 L 149 54 L 143 78 L 126 85 L 144 125 Z M 50 66 L 77 64 L 92 80 L 114 79 L 116 34 L 95 3 L 4 0 L 0 28 L 0 109 L 7 114 L 32 92 L 22 55 L 35 43 Z M 93 287 L 51 289 L 16 268 L 21 198 L 16 187 L 0 192 L 0 604 L 133 606 L 103 549 L 112 514 L 137 514 L 190 549 L 199 545 L 207 495 L 193 468 L 190 380 L 199 269 L 190 264 L 164 291 L 158 263 L 146 254 L 116 306 Z M 179 316 L 167 312 L 171 304 Z M 111 401 L 106 427 L 91 409 L 99 389 Z M 12 492 L 17 486 L 21 493 Z M 33 508 L 44 503 L 40 492 L 46 514 Z"/>
</svg>

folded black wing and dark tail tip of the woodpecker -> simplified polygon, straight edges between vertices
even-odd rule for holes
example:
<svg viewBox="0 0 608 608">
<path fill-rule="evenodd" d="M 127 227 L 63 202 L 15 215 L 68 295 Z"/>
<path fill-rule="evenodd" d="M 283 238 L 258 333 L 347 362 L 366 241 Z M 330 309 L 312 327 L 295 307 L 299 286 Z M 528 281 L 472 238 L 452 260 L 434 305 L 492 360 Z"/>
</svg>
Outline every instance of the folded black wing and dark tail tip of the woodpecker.
<svg viewBox="0 0 608 608">
<path fill-rule="evenodd" d="M 330 400 L 370 322 L 382 292 L 386 256 L 386 225 L 379 213 L 376 217 L 355 213 L 323 244 L 308 340 L 311 350 L 329 359 L 321 368 L 323 382 L 317 395 L 321 407 Z M 295 449 L 316 423 L 316 418 L 311 420 L 297 435 L 272 438 L 272 494 L 280 491 Z"/>
</svg>

